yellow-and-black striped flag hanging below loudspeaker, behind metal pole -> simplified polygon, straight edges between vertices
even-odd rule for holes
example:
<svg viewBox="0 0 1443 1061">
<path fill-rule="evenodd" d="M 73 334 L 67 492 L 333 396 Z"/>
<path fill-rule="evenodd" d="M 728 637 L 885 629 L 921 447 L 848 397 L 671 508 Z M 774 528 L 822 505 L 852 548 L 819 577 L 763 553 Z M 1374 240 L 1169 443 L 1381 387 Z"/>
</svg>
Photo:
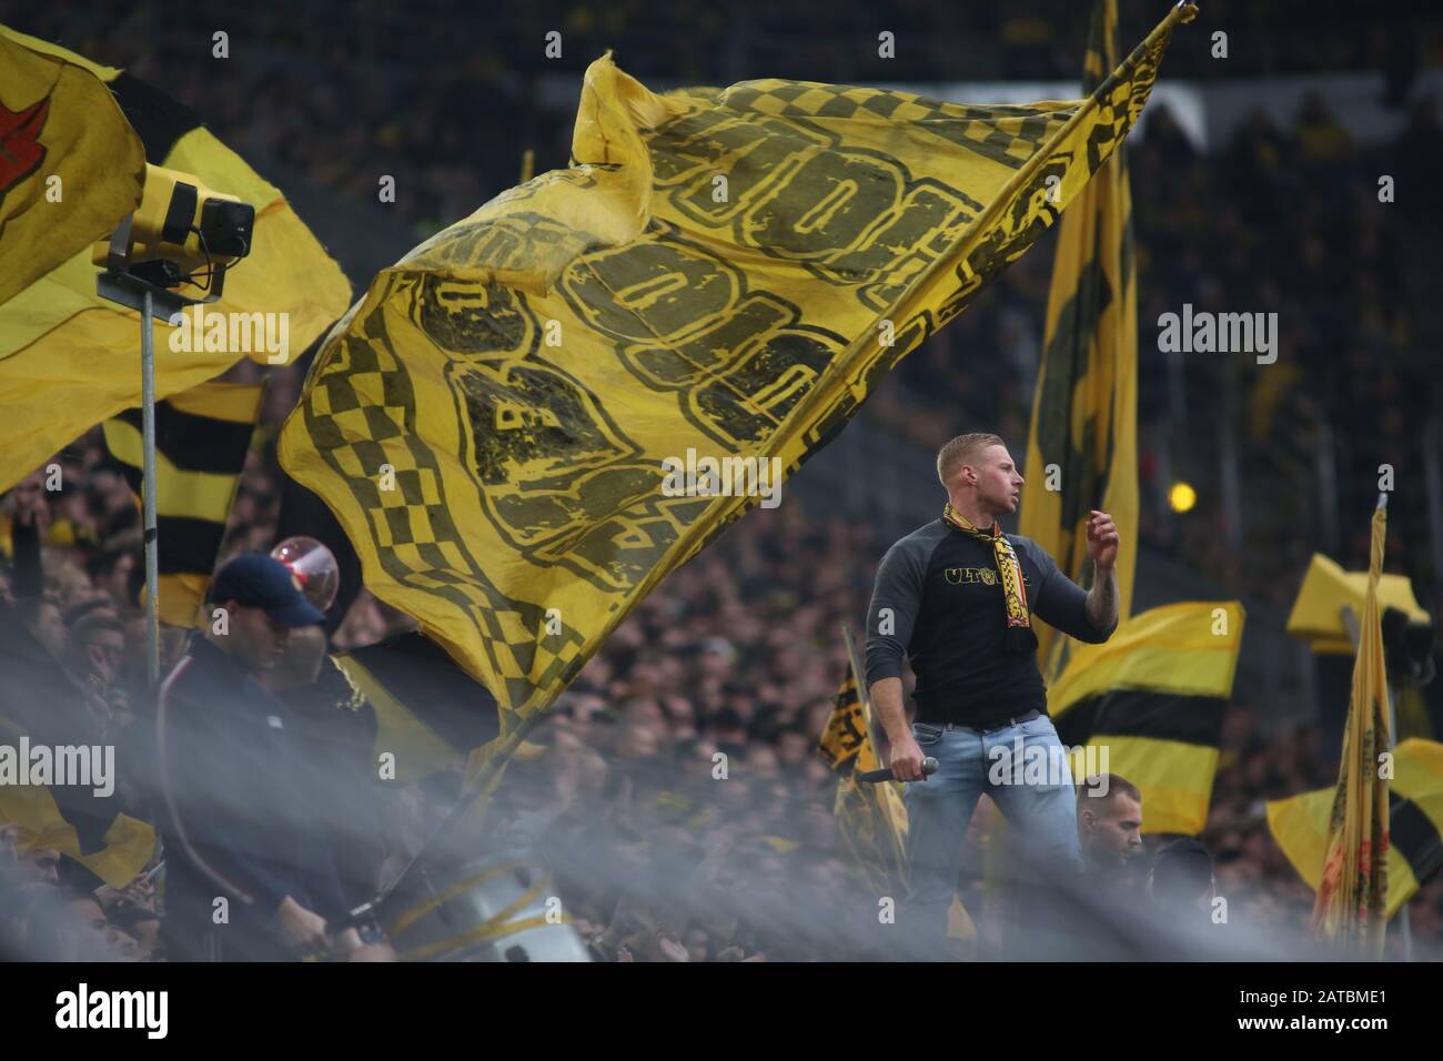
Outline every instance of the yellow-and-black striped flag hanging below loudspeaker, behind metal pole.
<svg viewBox="0 0 1443 1061">
<path fill-rule="evenodd" d="M 264 384 L 203 383 L 156 403 L 156 531 L 162 622 L 199 628 Z M 105 446 L 141 495 L 141 414 L 105 422 Z"/>
</svg>

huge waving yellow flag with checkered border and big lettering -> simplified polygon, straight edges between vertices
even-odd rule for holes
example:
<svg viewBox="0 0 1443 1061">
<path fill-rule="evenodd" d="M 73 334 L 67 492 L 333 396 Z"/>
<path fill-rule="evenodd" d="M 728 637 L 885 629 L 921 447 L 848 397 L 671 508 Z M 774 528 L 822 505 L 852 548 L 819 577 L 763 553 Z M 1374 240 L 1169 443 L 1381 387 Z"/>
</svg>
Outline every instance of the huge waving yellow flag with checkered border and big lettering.
<svg viewBox="0 0 1443 1061">
<path fill-rule="evenodd" d="M 281 463 L 372 593 L 502 709 L 545 707 L 1056 219 L 1189 17 L 1088 98 L 1029 105 L 794 81 L 657 95 L 603 58 L 577 163 L 375 277 Z"/>
</svg>

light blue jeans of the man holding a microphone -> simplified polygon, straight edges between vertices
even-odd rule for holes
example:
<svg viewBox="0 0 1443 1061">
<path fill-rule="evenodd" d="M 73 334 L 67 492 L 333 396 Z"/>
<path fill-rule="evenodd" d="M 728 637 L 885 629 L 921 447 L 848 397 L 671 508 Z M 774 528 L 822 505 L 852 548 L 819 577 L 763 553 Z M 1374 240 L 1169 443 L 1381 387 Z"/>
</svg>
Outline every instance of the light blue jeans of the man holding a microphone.
<svg viewBox="0 0 1443 1061">
<path fill-rule="evenodd" d="M 937 759 L 935 774 L 906 787 L 911 875 L 905 917 L 919 941 L 941 941 L 947 933 L 967 826 L 983 793 L 1017 831 L 1027 865 L 1046 876 L 1082 873 L 1076 791 L 1052 719 L 1039 715 L 988 730 L 918 723 L 912 736 L 922 755 Z M 1027 764 L 1039 759 L 1045 768 L 1030 774 Z"/>
</svg>

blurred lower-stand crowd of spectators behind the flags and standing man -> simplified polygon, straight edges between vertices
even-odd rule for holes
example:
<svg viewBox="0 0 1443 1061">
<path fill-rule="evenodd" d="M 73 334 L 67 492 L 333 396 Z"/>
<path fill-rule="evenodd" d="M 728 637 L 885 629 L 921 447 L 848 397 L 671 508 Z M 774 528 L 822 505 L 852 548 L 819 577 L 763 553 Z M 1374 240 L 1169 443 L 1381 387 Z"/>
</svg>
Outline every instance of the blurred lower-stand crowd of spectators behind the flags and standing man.
<svg viewBox="0 0 1443 1061">
<path fill-rule="evenodd" d="M 82 452 L 75 481 L 84 488 L 56 498 L 32 486 L 29 499 L 12 499 L 22 512 L 52 511 L 40 518 L 42 527 L 49 523 L 46 577 L 30 626 L 56 670 L 84 689 L 94 741 L 113 739 L 118 759 L 134 764 L 143 759 L 133 758 L 140 752 L 127 733 L 149 725 L 139 665 L 143 624 L 131 603 L 131 564 L 100 547 L 105 520 L 128 523 L 115 515 L 128 502 L 107 485 L 111 472 L 95 449 Z M 85 460 L 97 460 L 88 475 Z M 260 537 L 245 534 L 251 544 Z M 833 818 L 837 782 L 815 745 L 846 673 L 840 626 L 857 625 L 870 592 L 867 557 L 882 549 L 860 523 L 820 520 L 797 504 L 758 510 L 644 601 L 538 730 L 545 751 L 508 768 L 491 811 L 495 836 L 550 852 L 563 901 L 579 931 L 597 941 L 599 957 L 847 956 L 846 935 L 828 948 L 815 927 L 788 934 L 784 914 L 756 927 L 734 911 L 753 908 L 742 895 L 765 909 L 861 909 L 864 889 Z M 13 583 L 12 572 L 7 603 Z M 385 622 L 380 611 L 375 622 Z M 365 634 L 364 624 L 348 625 Z M 1329 785 L 1332 777 L 1310 752 L 1310 729 L 1264 735 L 1263 706 L 1238 691 L 1201 839 L 1235 924 L 1302 933 L 1312 894 L 1268 836 L 1263 801 Z M 717 752 L 726 755 L 726 778 L 716 775 Z M 453 798 L 453 782 L 397 787 L 385 797 L 388 868 L 416 849 L 424 821 Z M 118 800 L 115 810 L 147 814 L 144 798 L 126 785 Z M 602 839 L 605 852 L 593 850 Z M 3 856 L 10 865 L 0 888 L 26 896 L 0 904 L 17 953 L 75 957 L 101 946 L 117 959 L 156 954 L 157 882 L 147 873 L 107 888 L 14 826 L 6 827 Z M 603 863 L 613 866 L 610 876 L 597 872 Z M 970 909 L 980 908 L 980 872 L 978 862 L 968 869 L 962 898 Z M 674 883 L 681 881 L 685 888 Z M 163 889 L 163 876 L 159 883 Z M 709 889 L 729 901 L 696 909 Z M 63 917 L 43 918 L 46 904 Z M 1443 912 L 1440 882 L 1410 909 L 1416 940 L 1431 946 Z M 40 924 L 52 925 L 52 935 L 27 934 Z"/>
</svg>

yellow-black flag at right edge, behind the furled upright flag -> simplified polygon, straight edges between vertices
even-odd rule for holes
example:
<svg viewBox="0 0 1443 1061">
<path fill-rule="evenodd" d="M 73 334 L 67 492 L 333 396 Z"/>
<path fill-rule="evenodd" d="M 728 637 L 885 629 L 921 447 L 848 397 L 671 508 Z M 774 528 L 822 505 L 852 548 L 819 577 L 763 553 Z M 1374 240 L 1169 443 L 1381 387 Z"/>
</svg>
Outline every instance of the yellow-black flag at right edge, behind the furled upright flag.
<svg viewBox="0 0 1443 1061">
<path fill-rule="evenodd" d="M 1267 804 L 1267 824 L 1299 876 L 1317 891 L 1328 859 L 1335 790 L 1319 788 Z M 1388 788 L 1388 891 L 1391 918 L 1443 868 L 1443 743 L 1418 738 L 1392 754 Z"/>
</svg>

